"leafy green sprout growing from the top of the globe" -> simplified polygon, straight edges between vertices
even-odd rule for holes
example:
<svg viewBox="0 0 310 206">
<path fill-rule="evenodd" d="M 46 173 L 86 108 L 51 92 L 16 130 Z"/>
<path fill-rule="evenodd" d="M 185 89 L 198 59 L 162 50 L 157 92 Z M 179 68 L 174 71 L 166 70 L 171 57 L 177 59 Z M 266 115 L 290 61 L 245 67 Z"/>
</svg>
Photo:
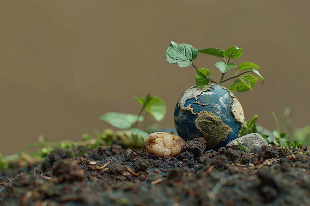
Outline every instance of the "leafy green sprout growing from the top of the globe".
<svg viewBox="0 0 310 206">
<path fill-rule="evenodd" d="M 211 72 L 209 69 L 198 69 L 198 67 L 193 64 L 193 60 L 197 58 L 198 53 L 208 54 L 222 59 L 222 61 L 215 63 L 215 67 L 222 74 L 219 81 L 214 81 L 210 78 Z M 195 80 L 196 85 L 200 88 L 204 88 L 209 82 L 221 84 L 223 82 L 237 78 L 237 80 L 232 82 L 227 88 L 231 91 L 245 92 L 250 89 L 252 90 L 252 87 L 258 81 L 257 77 L 246 73 L 254 73 L 260 78 L 261 83 L 264 82 L 264 78 L 259 74 L 259 66 L 257 64 L 253 62 L 243 62 L 239 64 L 238 71 L 233 76 L 225 79 L 226 73 L 237 67 L 237 65 L 231 63 L 230 60 L 240 58 L 242 53 L 242 48 L 237 46 L 232 46 L 226 50 L 221 50 L 218 48 L 206 48 L 198 50 L 190 44 L 175 43 L 174 41 L 171 41 L 170 46 L 166 50 L 165 58 L 169 63 L 177 63 L 179 67 L 182 68 L 192 65 L 197 70 Z"/>
</svg>

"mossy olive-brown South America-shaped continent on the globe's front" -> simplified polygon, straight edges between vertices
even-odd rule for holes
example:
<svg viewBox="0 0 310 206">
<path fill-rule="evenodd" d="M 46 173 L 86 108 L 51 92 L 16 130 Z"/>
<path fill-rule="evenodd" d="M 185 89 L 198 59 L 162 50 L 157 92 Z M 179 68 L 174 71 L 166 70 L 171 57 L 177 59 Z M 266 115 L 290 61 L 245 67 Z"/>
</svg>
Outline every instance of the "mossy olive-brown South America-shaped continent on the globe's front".
<svg viewBox="0 0 310 206">
<path fill-rule="evenodd" d="M 218 143 L 224 141 L 232 128 L 222 122 L 212 112 L 201 111 L 195 120 L 195 126 L 204 135 L 207 141 L 207 149 L 211 149 Z"/>
</svg>

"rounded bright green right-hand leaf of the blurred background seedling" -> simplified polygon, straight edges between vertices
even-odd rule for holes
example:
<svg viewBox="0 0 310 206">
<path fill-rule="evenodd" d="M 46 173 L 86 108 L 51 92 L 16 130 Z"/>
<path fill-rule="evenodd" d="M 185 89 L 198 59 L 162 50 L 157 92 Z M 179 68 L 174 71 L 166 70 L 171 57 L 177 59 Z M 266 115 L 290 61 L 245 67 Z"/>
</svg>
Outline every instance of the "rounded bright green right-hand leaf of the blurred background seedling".
<svg viewBox="0 0 310 206">
<path fill-rule="evenodd" d="M 166 105 L 159 97 L 153 97 L 148 102 L 146 111 L 151 114 L 156 121 L 161 121 L 166 114 Z"/>
</svg>

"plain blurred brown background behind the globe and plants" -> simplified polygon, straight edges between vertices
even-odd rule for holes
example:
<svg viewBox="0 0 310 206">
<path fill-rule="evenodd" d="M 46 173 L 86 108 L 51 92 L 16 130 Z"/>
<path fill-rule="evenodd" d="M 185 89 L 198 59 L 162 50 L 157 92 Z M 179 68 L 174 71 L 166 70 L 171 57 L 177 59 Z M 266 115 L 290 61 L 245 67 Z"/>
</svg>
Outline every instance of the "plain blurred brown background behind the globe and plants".
<svg viewBox="0 0 310 206">
<path fill-rule="evenodd" d="M 293 106 L 293 126 L 309 124 L 310 1 L 300 0 L 0 0 L 0 153 L 14 154 L 46 135 L 80 140 L 109 125 L 108 111 L 137 114 L 148 92 L 167 105 L 195 84 L 195 70 L 170 65 L 170 41 L 198 49 L 232 45 L 265 77 L 237 93 L 246 119 L 276 128 Z M 216 58 L 198 67 L 219 72 Z M 227 86 L 227 84 L 224 84 Z M 282 121 L 283 122 L 283 121 Z"/>
</svg>

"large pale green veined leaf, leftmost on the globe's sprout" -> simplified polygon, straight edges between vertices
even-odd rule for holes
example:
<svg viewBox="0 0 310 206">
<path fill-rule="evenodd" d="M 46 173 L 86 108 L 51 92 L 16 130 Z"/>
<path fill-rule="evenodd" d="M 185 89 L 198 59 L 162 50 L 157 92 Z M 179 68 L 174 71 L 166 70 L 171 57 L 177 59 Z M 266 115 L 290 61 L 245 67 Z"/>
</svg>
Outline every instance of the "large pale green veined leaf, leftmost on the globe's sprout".
<svg viewBox="0 0 310 206">
<path fill-rule="evenodd" d="M 198 55 L 198 50 L 187 43 L 175 43 L 171 41 L 171 44 L 166 50 L 165 58 L 170 64 L 178 63 L 179 67 L 188 67 L 192 65 L 194 59 Z"/>
</svg>

